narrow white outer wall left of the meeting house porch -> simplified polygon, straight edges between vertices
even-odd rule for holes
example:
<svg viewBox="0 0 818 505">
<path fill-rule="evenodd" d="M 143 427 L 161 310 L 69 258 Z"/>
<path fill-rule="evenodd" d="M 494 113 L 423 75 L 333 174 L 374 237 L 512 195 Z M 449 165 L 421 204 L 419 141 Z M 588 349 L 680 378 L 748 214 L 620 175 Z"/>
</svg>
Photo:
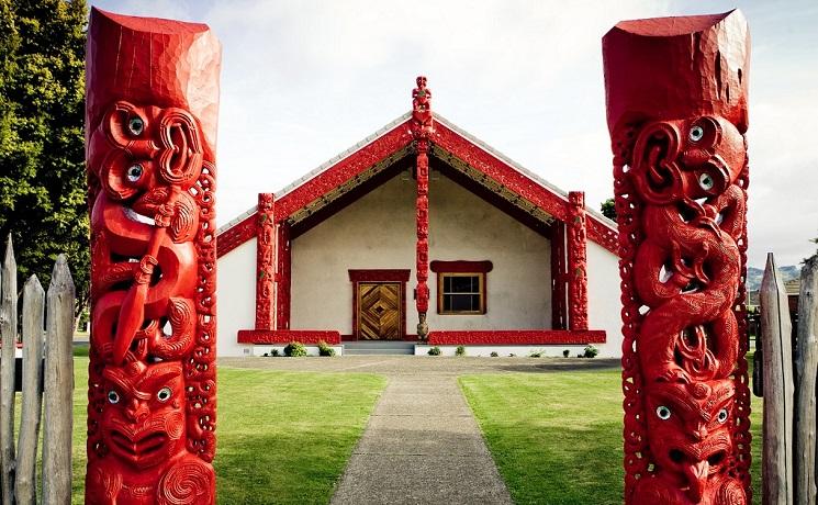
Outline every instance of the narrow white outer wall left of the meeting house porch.
<svg viewBox="0 0 818 505">
<path fill-rule="evenodd" d="M 218 258 L 216 324 L 218 356 L 251 356 L 253 346 L 236 343 L 239 329 L 256 327 L 256 239 Z"/>
</svg>

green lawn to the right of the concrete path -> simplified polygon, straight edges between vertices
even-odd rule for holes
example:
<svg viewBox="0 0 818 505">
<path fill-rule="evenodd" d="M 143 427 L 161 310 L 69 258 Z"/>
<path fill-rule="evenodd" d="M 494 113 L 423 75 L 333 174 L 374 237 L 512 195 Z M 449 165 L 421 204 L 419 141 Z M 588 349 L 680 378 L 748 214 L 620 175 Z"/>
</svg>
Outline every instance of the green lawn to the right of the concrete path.
<svg viewBox="0 0 818 505">
<path fill-rule="evenodd" d="M 623 503 L 620 381 L 619 370 L 460 378 L 515 503 Z M 761 399 L 752 407 L 760 503 Z"/>
</svg>

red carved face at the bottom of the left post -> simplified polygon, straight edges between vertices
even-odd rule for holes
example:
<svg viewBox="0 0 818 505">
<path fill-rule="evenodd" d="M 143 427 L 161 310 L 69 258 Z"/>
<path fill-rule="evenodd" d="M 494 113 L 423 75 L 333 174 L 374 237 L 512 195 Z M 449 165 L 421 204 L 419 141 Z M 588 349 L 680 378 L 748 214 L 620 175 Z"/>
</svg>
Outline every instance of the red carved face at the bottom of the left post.
<svg viewBox="0 0 818 505">
<path fill-rule="evenodd" d="M 145 469 L 184 451 L 184 388 L 179 362 L 108 367 L 102 438 L 122 461 Z"/>
</svg>

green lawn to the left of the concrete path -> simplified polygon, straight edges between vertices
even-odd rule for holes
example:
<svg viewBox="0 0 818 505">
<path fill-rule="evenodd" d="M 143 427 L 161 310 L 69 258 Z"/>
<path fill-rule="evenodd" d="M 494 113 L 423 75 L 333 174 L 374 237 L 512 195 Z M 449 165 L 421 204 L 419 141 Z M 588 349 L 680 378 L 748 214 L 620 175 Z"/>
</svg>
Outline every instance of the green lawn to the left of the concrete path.
<svg viewBox="0 0 818 505">
<path fill-rule="evenodd" d="M 85 492 L 87 369 L 88 358 L 77 357 L 75 504 Z M 328 503 L 385 384 L 363 373 L 220 368 L 218 503 Z"/>
</svg>

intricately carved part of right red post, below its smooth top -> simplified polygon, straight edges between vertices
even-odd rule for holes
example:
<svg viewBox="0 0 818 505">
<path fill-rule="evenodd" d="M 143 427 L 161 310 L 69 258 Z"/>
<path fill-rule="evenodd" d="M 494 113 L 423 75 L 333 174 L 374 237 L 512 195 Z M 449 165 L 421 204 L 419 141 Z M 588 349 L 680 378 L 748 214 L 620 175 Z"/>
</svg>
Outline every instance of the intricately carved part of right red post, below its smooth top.
<svg viewBox="0 0 818 505">
<path fill-rule="evenodd" d="M 617 138 L 626 468 L 635 476 L 626 487 L 631 503 L 744 503 L 731 379 L 743 137 L 705 115 L 630 126 Z M 641 377 L 629 371 L 637 357 Z"/>
</svg>

